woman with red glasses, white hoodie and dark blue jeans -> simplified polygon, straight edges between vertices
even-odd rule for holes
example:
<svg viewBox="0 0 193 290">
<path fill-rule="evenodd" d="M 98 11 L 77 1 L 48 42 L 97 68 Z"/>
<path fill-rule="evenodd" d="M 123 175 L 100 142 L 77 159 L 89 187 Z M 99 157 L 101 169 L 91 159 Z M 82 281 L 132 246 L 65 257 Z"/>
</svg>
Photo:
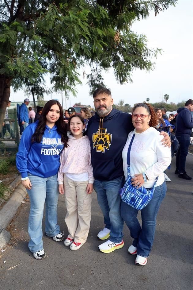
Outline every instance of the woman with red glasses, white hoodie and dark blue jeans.
<svg viewBox="0 0 193 290">
<path fill-rule="evenodd" d="M 141 210 L 142 227 L 137 219 L 138 210 L 121 202 L 121 215 L 134 239 L 128 252 L 131 255 L 137 254 L 135 264 L 146 265 L 153 245 L 157 213 L 166 194 L 164 170 L 171 163 L 171 151 L 169 147 L 162 145 L 160 133 L 153 128 L 157 124 L 157 117 L 152 106 L 147 103 L 137 104 L 132 112 L 132 122 L 135 129 L 128 134 L 122 152 L 125 179 L 127 179 L 127 151 L 133 134 L 135 137 L 130 152 L 133 186 L 152 188 L 158 177 L 153 198 Z"/>
</svg>

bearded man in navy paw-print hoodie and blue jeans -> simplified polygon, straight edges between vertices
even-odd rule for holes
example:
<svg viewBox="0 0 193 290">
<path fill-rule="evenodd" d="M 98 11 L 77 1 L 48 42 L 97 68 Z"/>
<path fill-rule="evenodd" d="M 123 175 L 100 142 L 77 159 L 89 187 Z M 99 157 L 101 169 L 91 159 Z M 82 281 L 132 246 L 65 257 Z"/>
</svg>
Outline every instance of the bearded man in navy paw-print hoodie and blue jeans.
<svg viewBox="0 0 193 290">
<path fill-rule="evenodd" d="M 97 237 L 106 240 L 99 246 L 103 253 L 111 253 L 124 246 L 123 219 L 120 215 L 119 195 L 124 184 L 122 151 L 127 135 L 134 130 L 131 115 L 112 108 L 111 91 L 104 87 L 93 93 L 96 114 L 90 118 L 86 134 L 91 145 L 94 190 L 104 215 L 105 227 Z M 166 132 L 164 144 L 170 144 Z"/>
</svg>

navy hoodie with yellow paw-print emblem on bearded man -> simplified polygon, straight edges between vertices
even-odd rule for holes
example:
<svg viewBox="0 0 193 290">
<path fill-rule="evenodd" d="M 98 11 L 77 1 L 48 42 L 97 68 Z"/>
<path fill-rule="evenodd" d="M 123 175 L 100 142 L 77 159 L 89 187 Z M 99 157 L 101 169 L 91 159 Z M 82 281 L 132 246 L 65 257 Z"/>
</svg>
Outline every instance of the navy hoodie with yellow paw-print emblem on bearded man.
<svg viewBox="0 0 193 290">
<path fill-rule="evenodd" d="M 113 180 L 124 175 L 122 151 L 132 130 L 131 115 L 114 108 L 104 118 L 97 113 L 90 118 L 86 134 L 91 145 L 95 179 Z"/>
</svg>

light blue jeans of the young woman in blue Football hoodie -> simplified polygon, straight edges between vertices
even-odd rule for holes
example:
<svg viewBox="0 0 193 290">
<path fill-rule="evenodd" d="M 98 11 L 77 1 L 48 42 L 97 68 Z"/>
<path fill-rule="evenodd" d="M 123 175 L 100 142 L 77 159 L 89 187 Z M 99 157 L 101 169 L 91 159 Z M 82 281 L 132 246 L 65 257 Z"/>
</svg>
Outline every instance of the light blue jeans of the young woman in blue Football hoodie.
<svg viewBox="0 0 193 290">
<path fill-rule="evenodd" d="M 32 189 L 27 190 L 30 197 L 30 213 L 28 221 L 28 233 L 30 241 L 28 248 L 32 253 L 43 249 L 42 219 L 44 215 L 44 203 L 46 203 L 45 232 L 53 237 L 60 232 L 57 225 L 58 205 L 58 181 L 57 174 L 42 178 L 28 173 Z"/>
</svg>

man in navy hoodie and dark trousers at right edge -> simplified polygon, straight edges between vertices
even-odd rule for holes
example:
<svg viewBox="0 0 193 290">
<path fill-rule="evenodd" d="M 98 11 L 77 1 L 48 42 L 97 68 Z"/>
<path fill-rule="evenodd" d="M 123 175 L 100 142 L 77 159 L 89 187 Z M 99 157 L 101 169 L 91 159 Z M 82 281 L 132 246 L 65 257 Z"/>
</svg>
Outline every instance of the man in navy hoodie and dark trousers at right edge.
<svg viewBox="0 0 193 290">
<path fill-rule="evenodd" d="M 179 141 L 180 147 L 176 154 L 176 171 L 178 177 L 191 180 L 192 178 L 186 174 L 185 164 L 190 145 L 190 136 L 193 128 L 193 118 L 191 110 L 193 109 L 193 100 L 189 99 L 183 108 L 177 110 L 176 118 L 176 138 Z"/>
</svg>

